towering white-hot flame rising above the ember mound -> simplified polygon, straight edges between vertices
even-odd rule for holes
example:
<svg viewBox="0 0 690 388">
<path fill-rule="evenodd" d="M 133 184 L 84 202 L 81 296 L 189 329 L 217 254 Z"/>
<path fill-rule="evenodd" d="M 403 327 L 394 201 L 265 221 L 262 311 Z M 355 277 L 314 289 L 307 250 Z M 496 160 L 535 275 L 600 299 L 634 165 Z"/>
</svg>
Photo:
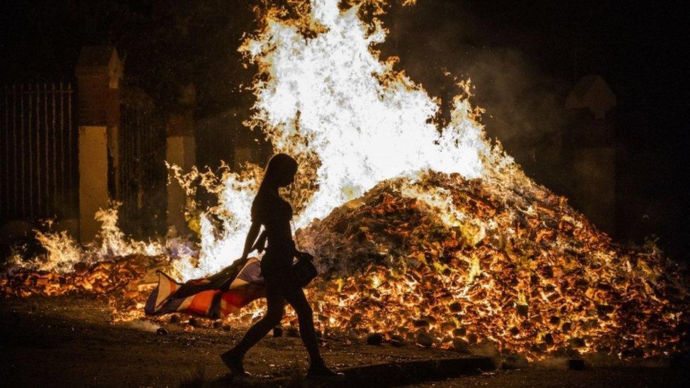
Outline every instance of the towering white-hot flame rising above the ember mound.
<svg viewBox="0 0 690 388">
<path fill-rule="evenodd" d="M 438 102 L 373 50 L 385 39 L 381 25 L 368 33 L 356 8 L 341 13 L 337 4 L 311 1 L 312 22 L 326 29 L 316 37 L 269 20 L 242 47 L 269 76 L 257 86 L 255 108 L 257 119 L 277 129 L 269 136 L 274 147 L 300 153 L 293 139 L 308 139 L 322 163 L 320 190 L 298 227 L 399 175 L 431 168 L 480 177 L 491 148 L 464 100 L 455 101 L 448 126 L 436 127 Z"/>
</svg>

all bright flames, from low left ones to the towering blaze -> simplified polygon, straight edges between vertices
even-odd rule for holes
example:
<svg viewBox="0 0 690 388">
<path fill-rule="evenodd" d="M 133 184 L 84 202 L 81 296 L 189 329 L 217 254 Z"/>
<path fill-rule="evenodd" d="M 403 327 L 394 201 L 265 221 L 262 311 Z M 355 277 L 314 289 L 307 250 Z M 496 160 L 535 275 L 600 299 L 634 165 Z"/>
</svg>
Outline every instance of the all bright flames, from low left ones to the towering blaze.
<svg viewBox="0 0 690 388">
<path fill-rule="evenodd" d="M 275 151 L 301 163 L 298 182 L 288 193 L 297 210 L 296 228 L 327 216 L 382 180 L 414 177 L 422 170 L 482 177 L 497 163 L 512 163 L 486 141 L 475 120 L 476 109 L 467 100 L 469 83 L 461 85 L 464 93 L 454 100 L 451 121 L 440 126 L 434 120 L 440 102 L 404 72 L 395 71 L 395 59 L 379 58 L 375 46 L 384 41 L 386 30 L 377 19 L 367 24 L 358 14 L 361 4 L 380 12 L 385 1 L 353 1 L 356 5 L 344 11 L 337 0 L 288 3 L 303 12 L 291 18 L 281 8 L 262 8 L 262 28 L 240 51 L 258 67 L 255 114 L 247 124 L 264 131 Z M 313 36 L 305 36 L 305 31 Z M 175 244 L 177 248 L 166 250 L 127 239 L 112 221 L 117 221 L 117 213 L 103 211 L 97 215 L 103 222 L 100 247 L 80 251 L 65 235 L 40 235 L 51 253 L 40 266 L 35 261 L 25 265 L 69 271 L 85 257 L 98 261 L 118 253 L 165 253 L 177 259 L 184 280 L 227 266 L 242 251 L 260 167 L 240 173 L 224 168 L 219 174 L 197 168 L 182 172 L 177 166 L 170 170 L 190 199 L 197 187 L 218 196 L 217 206 L 194 215 L 201 236 L 195 259 L 177 254 L 195 251 L 193 247 L 179 249 Z M 50 247 L 56 245 L 69 249 L 53 254 L 56 249 Z"/>
</svg>

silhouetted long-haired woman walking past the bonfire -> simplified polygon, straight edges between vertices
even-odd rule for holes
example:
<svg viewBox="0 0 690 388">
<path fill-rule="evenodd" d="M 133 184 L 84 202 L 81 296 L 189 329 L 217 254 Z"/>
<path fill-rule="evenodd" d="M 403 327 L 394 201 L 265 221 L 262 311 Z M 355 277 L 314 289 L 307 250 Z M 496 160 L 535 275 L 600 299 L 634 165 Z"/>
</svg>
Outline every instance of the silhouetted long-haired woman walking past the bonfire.
<svg viewBox="0 0 690 388">
<path fill-rule="evenodd" d="M 290 220 L 292 207 L 281 198 L 278 189 L 295 180 L 297 162 L 284 153 L 274 155 L 269 161 L 264 180 L 252 204 L 252 226 L 247 233 L 242 259 L 252 252 L 262 241 L 257 241 L 259 229 L 264 225 L 264 234 L 268 240 L 266 253 L 261 260 L 261 274 L 266 286 L 266 315 L 255 323 L 235 348 L 221 355 L 223 362 L 235 375 L 247 375 L 242 367 L 245 353 L 262 339 L 272 328 L 280 324 L 287 301 L 297 312 L 300 324 L 300 336 L 309 352 L 310 366 L 308 376 L 334 377 L 337 374 L 327 368 L 319 352 L 314 330 L 312 308 L 304 296 L 302 286 L 292 269 L 293 258 L 305 253 L 295 248 L 292 240 Z M 262 240 L 259 237 L 259 240 Z"/>
</svg>

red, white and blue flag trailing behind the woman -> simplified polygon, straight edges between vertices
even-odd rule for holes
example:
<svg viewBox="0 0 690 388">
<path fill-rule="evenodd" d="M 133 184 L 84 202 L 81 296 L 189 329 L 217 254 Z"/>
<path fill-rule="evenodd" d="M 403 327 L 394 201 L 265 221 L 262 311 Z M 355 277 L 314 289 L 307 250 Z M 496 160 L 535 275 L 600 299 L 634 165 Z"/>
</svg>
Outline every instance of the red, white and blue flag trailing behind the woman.
<svg viewBox="0 0 690 388">
<path fill-rule="evenodd" d="M 208 278 L 178 283 L 158 271 L 158 286 L 146 301 L 147 315 L 184 312 L 218 319 L 240 310 L 247 303 L 266 295 L 261 261 L 237 260 Z"/>
</svg>

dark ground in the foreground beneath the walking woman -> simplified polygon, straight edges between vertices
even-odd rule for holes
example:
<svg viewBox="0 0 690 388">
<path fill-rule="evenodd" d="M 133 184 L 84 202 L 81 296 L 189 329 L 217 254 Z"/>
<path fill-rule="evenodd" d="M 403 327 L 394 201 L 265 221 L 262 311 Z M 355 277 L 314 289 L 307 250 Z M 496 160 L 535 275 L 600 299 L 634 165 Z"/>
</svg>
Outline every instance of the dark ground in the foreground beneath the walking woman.
<svg viewBox="0 0 690 388">
<path fill-rule="evenodd" d="M 84 296 L 0 299 L 0 381 L 4 386 L 177 387 L 199 382 L 232 386 L 218 354 L 244 329 L 194 329 L 185 324 L 155 327 L 135 322 L 109 324 L 106 302 Z M 457 357 L 454 351 L 416 346 L 348 344 L 326 339 L 324 358 L 334 368 L 423 358 Z M 245 361 L 254 382 L 303 375 L 307 360 L 300 339 L 262 340 Z M 250 382 L 250 384 L 253 384 Z M 682 368 L 631 364 L 575 370 L 498 370 L 484 375 L 430 382 L 416 387 L 688 387 Z"/>
</svg>

